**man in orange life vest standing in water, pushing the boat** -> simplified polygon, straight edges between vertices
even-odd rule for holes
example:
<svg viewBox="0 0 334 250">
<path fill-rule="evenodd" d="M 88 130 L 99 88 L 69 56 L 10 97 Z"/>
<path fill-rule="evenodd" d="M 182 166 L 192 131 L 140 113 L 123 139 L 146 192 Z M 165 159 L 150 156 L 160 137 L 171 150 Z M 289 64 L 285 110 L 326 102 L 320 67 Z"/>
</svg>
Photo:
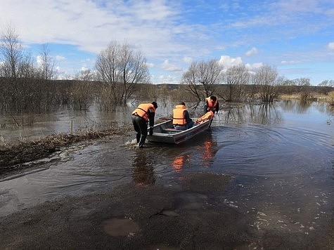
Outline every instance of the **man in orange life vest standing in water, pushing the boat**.
<svg viewBox="0 0 334 250">
<path fill-rule="evenodd" d="M 153 135 L 155 110 L 158 108 L 157 103 L 141 103 L 136 110 L 132 112 L 132 124 L 136 134 L 138 147 L 143 147 L 147 136 L 147 125 L 150 120 L 150 136 Z"/>
</svg>

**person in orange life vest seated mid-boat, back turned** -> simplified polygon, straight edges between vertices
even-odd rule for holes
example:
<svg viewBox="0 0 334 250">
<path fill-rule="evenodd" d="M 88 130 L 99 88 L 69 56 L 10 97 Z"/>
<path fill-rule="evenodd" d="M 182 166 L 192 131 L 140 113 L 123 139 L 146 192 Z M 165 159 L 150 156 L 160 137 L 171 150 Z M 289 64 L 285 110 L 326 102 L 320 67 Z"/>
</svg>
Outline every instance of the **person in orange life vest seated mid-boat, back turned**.
<svg viewBox="0 0 334 250">
<path fill-rule="evenodd" d="M 189 112 L 184 102 L 176 105 L 173 110 L 173 125 L 174 129 L 177 130 L 186 130 L 193 127 L 193 120 L 189 117 Z"/>
</svg>

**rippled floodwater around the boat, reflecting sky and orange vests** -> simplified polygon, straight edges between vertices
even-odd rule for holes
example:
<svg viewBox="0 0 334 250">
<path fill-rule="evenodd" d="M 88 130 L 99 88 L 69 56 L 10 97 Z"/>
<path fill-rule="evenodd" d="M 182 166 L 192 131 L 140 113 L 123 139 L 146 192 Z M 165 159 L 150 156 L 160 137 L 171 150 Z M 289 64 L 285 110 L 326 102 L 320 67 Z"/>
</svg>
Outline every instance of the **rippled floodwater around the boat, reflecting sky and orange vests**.
<svg viewBox="0 0 334 250">
<path fill-rule="evenodd" d="M 30 131 L 35 137 L 68 133 L 73 121 L 79 124 L 75 129 L 107 126 L 116 119 L 125 124 L 131 122 L 128 109 L 63 111 L 51 121 L 39 115 L 30 129 L 19 132 L 9 117 L 0 122 L 1 136 L 9 141 L 15 135 L 15 140 L 30 138 Z M 169 105 L 159 107 L 157 117 L 171 112 Z M 148 143 L 137 149 L 134 137 L 72 147 L 39 163 L 39 171 L 1 181 L 0 216 L 124 182 L 172 186 L 187 173 L 205 172 L 233 176 L 217 199 L 255 216 L 251 226 L 258 230 L 321 236 L 334 219 L 334 111 L 325 103 L 225 106 L 210 130 L 182 145 Z"/>
</svg>

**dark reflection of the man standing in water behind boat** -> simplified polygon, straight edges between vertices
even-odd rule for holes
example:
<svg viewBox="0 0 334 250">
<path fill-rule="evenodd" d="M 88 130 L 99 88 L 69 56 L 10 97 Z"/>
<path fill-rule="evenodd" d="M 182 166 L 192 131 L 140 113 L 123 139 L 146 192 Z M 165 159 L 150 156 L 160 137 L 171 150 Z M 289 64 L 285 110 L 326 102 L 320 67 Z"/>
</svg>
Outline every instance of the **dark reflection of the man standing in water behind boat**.
<svg viewBox="0 0 334 250">
<path fill-rule="evenodd" d="M 132 176 L 134 182 L 138 185 L 154 184 L 155 175 L 150 154 L 148 154 L 148 152 L 144 152 L 143 150 L 137 150 L 136 153 L 137 154 L 133 163 L 134 172 Z"/>
</svg>

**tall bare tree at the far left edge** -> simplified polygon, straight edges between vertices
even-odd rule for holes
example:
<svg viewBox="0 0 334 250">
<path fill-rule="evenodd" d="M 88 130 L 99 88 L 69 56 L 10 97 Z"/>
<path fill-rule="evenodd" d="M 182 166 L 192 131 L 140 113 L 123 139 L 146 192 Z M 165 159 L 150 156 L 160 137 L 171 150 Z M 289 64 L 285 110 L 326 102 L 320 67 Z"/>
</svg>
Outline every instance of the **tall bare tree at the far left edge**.
<svg viewBox="0 0 334 250">
<path fill-rule="evenodd" d="M 18 39 L 15 29 L 8 25 L 0 38 L 1 77 L 18 77 L 20 63 L 23 60 L 23 44 Z"/>
</svg>

